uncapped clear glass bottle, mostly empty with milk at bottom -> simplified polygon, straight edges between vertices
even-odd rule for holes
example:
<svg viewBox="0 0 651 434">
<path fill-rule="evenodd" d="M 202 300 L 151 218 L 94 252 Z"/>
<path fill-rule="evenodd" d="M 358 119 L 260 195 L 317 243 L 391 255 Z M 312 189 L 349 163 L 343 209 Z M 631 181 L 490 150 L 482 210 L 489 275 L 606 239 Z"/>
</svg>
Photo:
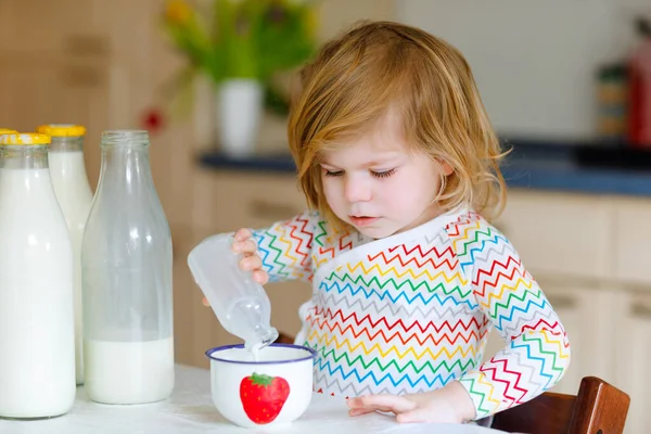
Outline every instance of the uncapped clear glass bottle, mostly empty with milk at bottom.
<svg viewBox="0 0 651 434">
<path fill-rule="evenodd" d="M 143 404 L 174 388 L 171 237 L 146 131 L 102 133 L 100 181 L 81 245 L 88 397 Z"/>
</svg>

